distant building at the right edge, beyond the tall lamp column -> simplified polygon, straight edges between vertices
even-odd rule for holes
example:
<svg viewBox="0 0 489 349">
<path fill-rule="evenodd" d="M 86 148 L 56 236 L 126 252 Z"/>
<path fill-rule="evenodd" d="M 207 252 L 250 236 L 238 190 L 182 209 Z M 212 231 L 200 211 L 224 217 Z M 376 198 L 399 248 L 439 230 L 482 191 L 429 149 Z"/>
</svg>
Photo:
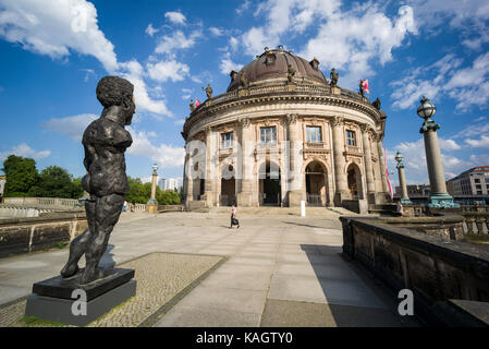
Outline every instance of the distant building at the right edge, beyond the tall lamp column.
<svg viewBox="0 0 489 349">
<path fill-rule="evenodd" d="M 452 196 L 487 196 L 489 194 L 489 166 L 470 168 L 447 182 Z"/>
</svg>

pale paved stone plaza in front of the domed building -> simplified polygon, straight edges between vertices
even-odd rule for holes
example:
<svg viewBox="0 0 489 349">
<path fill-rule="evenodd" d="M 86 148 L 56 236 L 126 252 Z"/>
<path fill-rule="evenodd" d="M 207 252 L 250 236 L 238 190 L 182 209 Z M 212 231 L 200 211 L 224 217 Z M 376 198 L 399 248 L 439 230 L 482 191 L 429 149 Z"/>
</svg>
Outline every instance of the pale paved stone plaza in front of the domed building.
<svg viewBox="0 0 489 349">
<path fill-rule="evenodd" d="M 136 297 L 88 326 L 419 326 L 342 254 L 340 213 L 308 208 L 124 213 L 101 265 L 135 269 Z M 57 275 L 68 249 L 0 260 L 0 326 L 23 320 L 33 282 Z"/>
</svg>

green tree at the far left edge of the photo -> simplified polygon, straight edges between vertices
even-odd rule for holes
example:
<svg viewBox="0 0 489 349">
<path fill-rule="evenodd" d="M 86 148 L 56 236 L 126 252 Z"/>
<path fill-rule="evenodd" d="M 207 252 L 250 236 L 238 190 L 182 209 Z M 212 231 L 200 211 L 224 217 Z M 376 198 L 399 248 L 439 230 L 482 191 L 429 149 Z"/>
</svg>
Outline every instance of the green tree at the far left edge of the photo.
<svg viewBox="0 0 489 349">
<path fill-rule="evenodd" d="M 7 177 L 4 196 L 25 196 L 39 181 L 36 161 L 28 157 L 10 155 L 3 161 L 2 171 Z"/>
</svg>

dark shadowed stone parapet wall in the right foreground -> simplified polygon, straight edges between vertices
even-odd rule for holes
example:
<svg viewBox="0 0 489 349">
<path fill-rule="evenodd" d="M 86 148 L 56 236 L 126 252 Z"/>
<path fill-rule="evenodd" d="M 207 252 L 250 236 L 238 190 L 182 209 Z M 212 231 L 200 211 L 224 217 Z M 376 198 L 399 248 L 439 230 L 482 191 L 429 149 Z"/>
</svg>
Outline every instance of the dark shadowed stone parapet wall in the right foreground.
<svg viewBox="0 0 489 349">
<path fill-rule="evenodd" d="M 437 218 L 433 218 L 437 219 Z M 343 253 L 358 261 L 398 296 L 414 294 L 414 313 L 428 323 L 445 325 L 449 300 L 489 302 L 489 251 L 484 246 L 448 242 L 375 218 L 340 217 Z M 445 306 L 440 306 L 444 304 Z"/>
</svg>

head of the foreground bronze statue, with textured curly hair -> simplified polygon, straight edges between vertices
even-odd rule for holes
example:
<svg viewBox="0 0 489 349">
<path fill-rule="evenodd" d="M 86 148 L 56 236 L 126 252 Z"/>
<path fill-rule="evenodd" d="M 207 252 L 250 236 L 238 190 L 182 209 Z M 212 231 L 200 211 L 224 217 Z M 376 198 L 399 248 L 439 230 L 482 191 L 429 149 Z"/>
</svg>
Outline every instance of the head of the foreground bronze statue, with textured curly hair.
<svg viewBox="0 0 489 349">
<path fill-rule="evenodd" d="M 124 110 L 124 123 L 131 124 L 136 112 L 134 103 L 134 85 L 119 76 L 105 76 L 97 85 L 97 99 L 105 108 L 121 106 Z"/>
</svg>

